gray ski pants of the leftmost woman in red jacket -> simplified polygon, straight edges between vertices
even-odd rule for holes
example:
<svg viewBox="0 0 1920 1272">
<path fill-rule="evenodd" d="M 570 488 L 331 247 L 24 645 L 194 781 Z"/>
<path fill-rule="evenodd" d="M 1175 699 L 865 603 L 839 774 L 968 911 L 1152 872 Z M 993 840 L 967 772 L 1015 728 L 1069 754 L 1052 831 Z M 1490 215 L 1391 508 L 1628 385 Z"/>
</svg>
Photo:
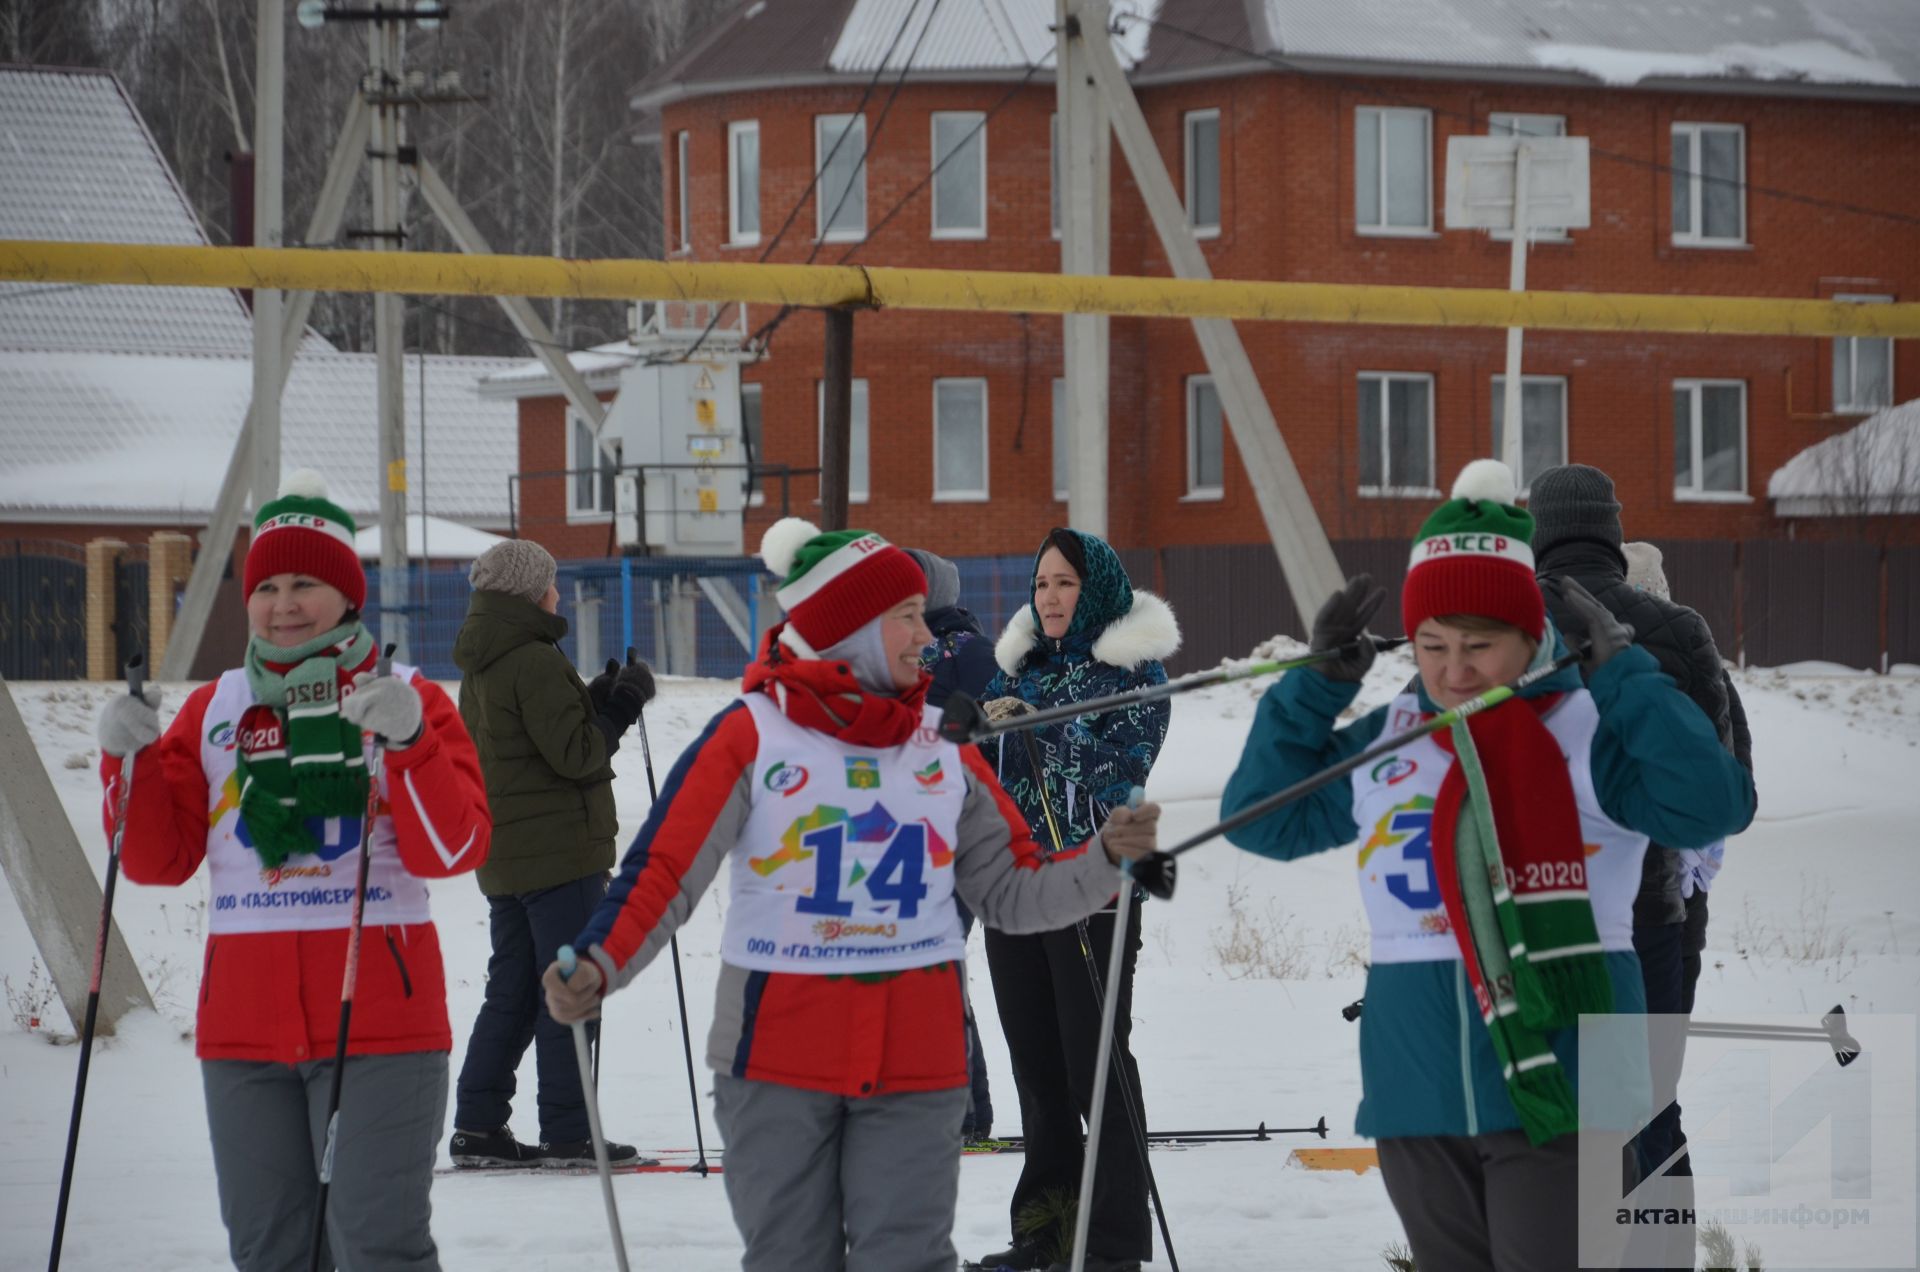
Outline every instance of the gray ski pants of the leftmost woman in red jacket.
<svg viewBox="0 0 1920 1272">
<path fill-rule="evenodd" d="M 202 1061 L 227 1251 L 240 1272 L 305 1272 L 334 1063 Z M 323 1268 L 438 1272 L 428 1218 L 447 1053 L 355 1055 L 340 1089 Z M 728 1162 L 732 1166 L 732 1162 Z"/>
</svg>

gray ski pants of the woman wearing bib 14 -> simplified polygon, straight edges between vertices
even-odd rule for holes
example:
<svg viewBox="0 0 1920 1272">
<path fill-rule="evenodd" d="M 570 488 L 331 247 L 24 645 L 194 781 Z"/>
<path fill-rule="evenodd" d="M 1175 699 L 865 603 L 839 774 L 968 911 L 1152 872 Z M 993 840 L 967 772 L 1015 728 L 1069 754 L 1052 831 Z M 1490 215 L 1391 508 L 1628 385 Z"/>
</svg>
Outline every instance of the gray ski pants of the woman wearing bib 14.
<svg viewBox="0 0 1920 1272">
<path fill-rule="evenodd" d="M 714 1074 L 741 1272 L 952 1272 L 968 1089 L 851 1099 Z"/>
</svg>

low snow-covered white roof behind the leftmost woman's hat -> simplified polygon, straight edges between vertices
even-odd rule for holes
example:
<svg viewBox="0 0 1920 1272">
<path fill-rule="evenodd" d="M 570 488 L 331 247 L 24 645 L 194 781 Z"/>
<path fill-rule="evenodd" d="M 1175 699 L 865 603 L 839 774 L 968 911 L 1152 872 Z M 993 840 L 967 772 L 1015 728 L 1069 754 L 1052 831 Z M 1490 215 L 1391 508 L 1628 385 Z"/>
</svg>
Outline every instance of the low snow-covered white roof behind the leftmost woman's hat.
<svg viewBox="0 0 1920 1272">
<path fill-rule="evenodd" d="M 507 357 L 405 363 L 409 500 L 482 526 L 509 525 L 518 405 L 482 396 Z M 0 521 L 204 523 L 253 390 L 240 355 L 0 350 Z M 303 352 L 280 407 L 284 471 L 313 467 L 355 517 L 378 513 L 372 354 Z"/>
</svg>

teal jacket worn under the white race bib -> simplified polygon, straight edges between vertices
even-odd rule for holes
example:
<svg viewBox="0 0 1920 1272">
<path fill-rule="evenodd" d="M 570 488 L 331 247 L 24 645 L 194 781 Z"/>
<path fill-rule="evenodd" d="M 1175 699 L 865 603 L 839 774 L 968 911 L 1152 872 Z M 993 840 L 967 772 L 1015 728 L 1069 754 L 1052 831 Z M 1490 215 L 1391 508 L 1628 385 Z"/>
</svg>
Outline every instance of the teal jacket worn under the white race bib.
<svg viewBox="0 0 1920 1272">
<path fill-rule="evenodd" d="M 1557 636 L 1553 648 L 1565 651 Z M 1578 688 L 1580 673 L 1569 667 L 1530 686 L 1526 696 Z M 1753 778 L 1651 653 L 1624 649 L 1586 688 L 1599 709 L 1594 788 L 1609 819 L 1672 847 L 1705 845 L 1747 824 Z M 1357 692 L 1357 684 L 1340 684 L 1315 671 L 1288 673 L 1267 690 L 1240 765 L 1221 795 L 1221 817 L 1373 746 L 1386 724 L 1384 705 L 1334 728 Z M 1425 690 L 1419 696 L 1423 709 L 1438 709 Z M 1334 782 L 1240 826 L 1227 840 L 1261 857 L 1292 861 L 1357 836 L 1352 786 Z M 1605 961 L 1615 1011 L 1644 1013 L 1640 961 L 1630 951 L 1609 951 Z M 1551 1043 L 1578 1088 L 1576 1032 L 1561 1030 Z M 1644 1055 L 1638 1059 L 1645 1063 Z M 1382 963 L 1367 970 L 1359 1074 L 1354 1126 L 1373 1139 L 1484 1136 L 1521 1126 L 1457 959 Z"/>
</svg>

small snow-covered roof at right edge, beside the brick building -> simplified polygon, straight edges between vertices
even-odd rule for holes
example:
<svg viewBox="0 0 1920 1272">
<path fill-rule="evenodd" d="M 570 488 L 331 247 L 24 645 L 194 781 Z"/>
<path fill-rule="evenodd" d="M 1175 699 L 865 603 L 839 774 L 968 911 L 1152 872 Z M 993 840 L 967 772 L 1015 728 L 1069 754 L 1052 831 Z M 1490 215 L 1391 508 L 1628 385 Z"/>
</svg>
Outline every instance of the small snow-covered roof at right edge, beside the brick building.
<svg viewBox="0 0 1920 1272">
<path fill-rule="evenodd" d="M 1814 442 L 1766 478 L 1778 517 L 1920 513 L 1920 398 Z"/>
</svg>

